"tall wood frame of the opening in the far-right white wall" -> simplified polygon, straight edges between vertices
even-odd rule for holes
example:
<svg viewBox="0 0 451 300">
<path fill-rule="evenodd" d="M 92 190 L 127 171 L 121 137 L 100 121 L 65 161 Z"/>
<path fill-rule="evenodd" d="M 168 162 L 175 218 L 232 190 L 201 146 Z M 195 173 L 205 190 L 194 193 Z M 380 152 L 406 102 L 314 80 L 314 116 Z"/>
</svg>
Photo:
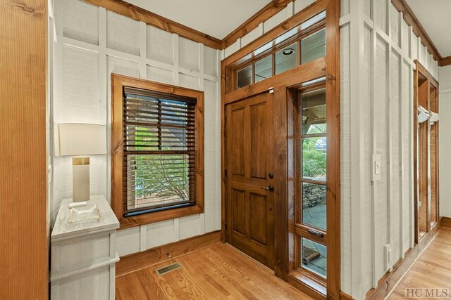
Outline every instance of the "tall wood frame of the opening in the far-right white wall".
<svg viewBox="0 0 451 300">
<path fill-rule="evenodd" d="M 426 84 L 427 84 L 427 89 L 428 89 L 428 93 L 427 93 L 427 100 L 426 100 L 426 106 L 425 107 L 427 110 L 429 110 L 430 104 L 431 104 L 431 99 L 430 99 L 430 91 L 431 91 L 431 86 L 435 89 L 436 93 L 435 93 L 435 101 L 436 101 L 436 105 L 437 105 L 437 112 L 438 112 L 438 104 L 439 104 L 439 89 L 438 89 L 438 81 L 435 80 L 435 78 L 432 76 L 432 74 L 430 72 L 428 72 L 428 70 L 426 70 L 426 67 L 424 67 L 424 65 L 421 65 L 421 63 L 419 63 L 418 60 L 414 60 L 415 63 L 415 70 L 414 70 L 414 117 L 413 117 L 413 122 L 414 122 L 414 242 L 416 244 L 419 243 L 419 241 L 421 240 L 422 237 L 426 236 L 426 234 L 424 234 L 423 236 L 420 237 L 419 235 L 419 207 L 418 207 L 418 203 L 419 203 L 419 175 L 418 175 L 418 170 L 419 170 L 419 162 L 418 162 L 418 145 L 417 145 L 417 141 L 419 140 L 419 133 L 418 130 L 416 129 L 416 126 L 418 125 L 418 120 L 416 118 L 416 114 L 417 114 L 417 108 L 418 107 L 418 103 L 419 103 L 419 77 L 423 77 L 426 79 Z M 428 122 L 428 121 L 427 121 Z M 438 126 L 438 124 L 436 125 Z M 437 132 L 438 132 L 438 127 L 437 127 Z M 435 141 L 436 143 L 436 147 L 437 147 L 437 159 L 436 159 L 436 164 L 437 164 L 437 168 L 435 170 L 436 172 L 436 182 L 437 182 L 437 187 L 439 186 L 439 181 L 440 181 L 440 177 L 438 174 L 438 145 L 440 143 L 440 141 L 437 140 Z M 430 131 L 428 130 L 428 139 L 427 139 L 427 147 L 428 147 L 428 155 L 426 157 L 426 166 L 429 165 L 430 163 L 430 144 L 431 144 L 431 137 L 430 137 Z M 428 167 L 426 169 L 429 169 Z M 428 174 L 428 182 L 430 182 L 430 174 Z M 440 197 L 439 197 L 439 190 L 437 188 L 436 192 L 436 202 L 435 202 L 435 214 L 437 215 L 437 222 L 435 223 L 434 226 L 436 226 L 438 224 L 438 220 L 440 219 Z M 428 189 L 428 194 L 429 194 L 429 189 Z M 428 195 L 429 197 L 429 195 Z M 432 226 L 432 228 L 434 227 Z M 426 233 L 430 232 L 432 230 L 431 228 L 431 203 L 428 201 L 428 203 L 426 204 Z"/>
</svg>

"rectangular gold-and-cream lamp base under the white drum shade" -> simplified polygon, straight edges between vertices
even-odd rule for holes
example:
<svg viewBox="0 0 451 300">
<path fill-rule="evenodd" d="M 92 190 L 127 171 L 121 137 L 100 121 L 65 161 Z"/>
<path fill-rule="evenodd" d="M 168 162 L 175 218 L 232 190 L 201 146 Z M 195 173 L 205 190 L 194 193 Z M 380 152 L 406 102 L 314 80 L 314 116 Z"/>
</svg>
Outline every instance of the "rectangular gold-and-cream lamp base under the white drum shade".
<svg viewBox="0 0 451 300">
<path fill-rule="evenodd" d="M 73 202 L 89 200 L 89 157 L 73 157 Z"/>
</svg>

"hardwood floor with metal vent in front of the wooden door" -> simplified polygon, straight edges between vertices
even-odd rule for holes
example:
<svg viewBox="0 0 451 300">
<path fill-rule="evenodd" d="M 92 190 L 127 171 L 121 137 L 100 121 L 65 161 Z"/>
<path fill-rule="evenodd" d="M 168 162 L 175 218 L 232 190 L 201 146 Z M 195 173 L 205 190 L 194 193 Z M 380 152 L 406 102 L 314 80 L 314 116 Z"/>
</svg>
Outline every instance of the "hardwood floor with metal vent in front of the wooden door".
<svg viewBox="0 0 451 300">
<path fill-rule="evenodd" d="M 182 268 L 157 275 L 156 268 Z M 116 299 L 311 299 L 229 244 L 214 244 L 116 278 Z"/>
</svg>

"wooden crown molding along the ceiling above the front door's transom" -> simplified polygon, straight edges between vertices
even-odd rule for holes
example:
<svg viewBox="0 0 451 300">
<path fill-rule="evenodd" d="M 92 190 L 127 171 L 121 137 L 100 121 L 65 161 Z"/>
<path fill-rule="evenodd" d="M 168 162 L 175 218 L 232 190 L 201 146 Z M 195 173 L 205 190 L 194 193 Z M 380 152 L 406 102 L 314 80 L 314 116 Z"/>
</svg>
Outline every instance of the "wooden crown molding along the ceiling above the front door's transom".
<svg viewBox="0 0 451 300">
<path fill-rule="evenodd" d="M 261 22 L 264 22 L 271 18 L 273 15 L 276 15 L 279 11 L 282 11 L 285 6 L 290 4 L 294 0 L 273 0 L 268 3 L 264 8 L 261 8 L 260 11 L 257 11 L 251 18 L 247 19 L 242 25 L 238 26 L 237 29 L 230 32 L 223 40 L 221 41 L 221 47 L 223 49 L 227 48 L 231 44 L 235 43 L 237 39 L 240 37 L 244 37 L 249 32 L 252 32 L 255 28 L 259 27 Z"/>
</svg>

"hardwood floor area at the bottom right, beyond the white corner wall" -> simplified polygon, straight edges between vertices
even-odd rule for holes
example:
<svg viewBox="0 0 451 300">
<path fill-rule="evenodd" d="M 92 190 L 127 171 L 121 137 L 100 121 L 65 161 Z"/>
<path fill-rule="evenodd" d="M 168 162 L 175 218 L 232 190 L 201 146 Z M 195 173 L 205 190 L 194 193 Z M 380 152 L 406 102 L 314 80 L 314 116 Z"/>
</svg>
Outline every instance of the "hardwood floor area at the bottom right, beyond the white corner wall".
<svg viewBox="0 0 451 300">
<path fill-rule="evenodd" d="M 388 299 L 406 299 L 407 291 L 412 291 L 412 288 L 421 289 L 417 292 L 419 299 L 426 299 L 424 289 L 437 288 L 439 293 L 446 288 L 447 297 L 451 297 L 451 228 L 440 228 L 435 239 L 414 262 Z"/>
</svg>

